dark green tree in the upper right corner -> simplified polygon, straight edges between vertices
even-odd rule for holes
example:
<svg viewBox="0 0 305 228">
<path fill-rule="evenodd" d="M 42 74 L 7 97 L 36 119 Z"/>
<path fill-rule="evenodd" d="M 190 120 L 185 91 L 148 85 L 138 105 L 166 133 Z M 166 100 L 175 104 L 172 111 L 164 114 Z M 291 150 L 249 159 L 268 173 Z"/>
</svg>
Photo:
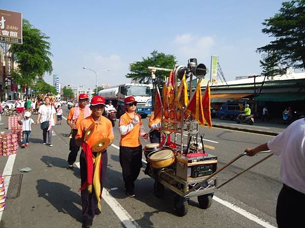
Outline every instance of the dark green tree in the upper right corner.
<svg viewBox="0 0 305 228">
<path fill-rule="evenodd" d="M 262 24 L 262 32 L 276 40 L 257 52 L 272 52 L 281 64 L 305 69 L 305 0 L 282 3 L 279 12 Z"/>
</svg>

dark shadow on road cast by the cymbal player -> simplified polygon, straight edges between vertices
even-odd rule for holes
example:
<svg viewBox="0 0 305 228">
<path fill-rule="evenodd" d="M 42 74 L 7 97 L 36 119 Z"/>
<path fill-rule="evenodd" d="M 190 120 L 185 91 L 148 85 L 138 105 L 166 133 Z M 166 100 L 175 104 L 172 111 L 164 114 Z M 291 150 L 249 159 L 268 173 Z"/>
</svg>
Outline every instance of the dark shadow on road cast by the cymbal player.
<svg viewBox="0 0 305 228">
<path fill-rule="evenodd" d="M 69 214 L 77 221 L 81 222 L 82 211 L 75 204 L 81 205 L 81 198 L 78 194 L 72 192 L 69 186 L 50 182 L 46 179 L 37 180 L 36 185 L 39 197 L 49 201 L 58 212 Z"/>
</svg>

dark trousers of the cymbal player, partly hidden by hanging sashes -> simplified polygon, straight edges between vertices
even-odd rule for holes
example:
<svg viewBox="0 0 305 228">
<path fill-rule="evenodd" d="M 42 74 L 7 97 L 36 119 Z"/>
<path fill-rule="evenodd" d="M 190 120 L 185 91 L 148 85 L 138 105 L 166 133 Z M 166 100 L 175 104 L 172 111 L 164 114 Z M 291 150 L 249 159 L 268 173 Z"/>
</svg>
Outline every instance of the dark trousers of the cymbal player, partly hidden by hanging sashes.
<svg viewBox="0 0 305 228">
<path fill-rule="evenodd" d="M 96 153 L 94 153 L 96 154 Z M 87 179 L 87 163 L 86 163 L 86 157 L 83 151 L 80 153 L 79 157 L 79 163 L 80 163 L 80 178 L 81 178 L 81 185 L 86 181 Z M 105 178 L 106 178 L 106 170 L 107 170 L 107 151 L 105 151 L 102 154 L 102 167 L 101 167 L 101 192 L 103 191 L 103 187 L 105 184 Z M 81 206 L 82 206 L 82 219 L 83 221 L 93 220 L 96 211 L 99 210 L 98 208 L 98 200 L 94 193 L 94 186 L 92 189 L 92 193 L 89 194 L 87 189 L 80 191 L 81 196 Z"/>
</svg>

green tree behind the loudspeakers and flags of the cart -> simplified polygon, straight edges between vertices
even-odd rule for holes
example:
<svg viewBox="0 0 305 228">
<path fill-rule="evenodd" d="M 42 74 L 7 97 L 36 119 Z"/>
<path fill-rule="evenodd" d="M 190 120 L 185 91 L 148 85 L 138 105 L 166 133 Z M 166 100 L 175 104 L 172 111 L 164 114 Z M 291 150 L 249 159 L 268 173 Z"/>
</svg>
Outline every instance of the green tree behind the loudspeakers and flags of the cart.
<svg viewBox="0 0 305 228">
<path fill-rule="evenodd" d="M 167 55 L 156 50 L 151 52 L 150 55 L 147 58 L 142 58 L 142 61 L 131 63 L 129 67 L 130 73 L 126 74 L 126 78 L 137 80 L 139 83 L 149 84 L 151 83 L 151 72 L 148 70 L 148 66 L 173 69 L 177 64 L 174 55 Z M 162 84 L 169 72 L 157 70 L 155 74 L 156 83 Z"/>
</svg>

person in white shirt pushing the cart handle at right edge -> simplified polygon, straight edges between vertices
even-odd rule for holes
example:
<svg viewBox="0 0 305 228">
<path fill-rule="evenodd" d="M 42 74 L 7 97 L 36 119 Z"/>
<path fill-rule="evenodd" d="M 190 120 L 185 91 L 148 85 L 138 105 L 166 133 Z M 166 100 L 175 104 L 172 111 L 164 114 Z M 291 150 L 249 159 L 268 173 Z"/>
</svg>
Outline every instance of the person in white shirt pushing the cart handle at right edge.
<svg viewBox="0 0 305 228">
<path fill-rule="evenodd" d="M 281 134 L 254 149 L 246 148 L 249 156 L 271 150 L 281 158 L 283 187 L 278 196 L 277 223 L 282 227 L 302 227 L 305 205 L 305 118 L 290 124 Z"/>
</svg>

